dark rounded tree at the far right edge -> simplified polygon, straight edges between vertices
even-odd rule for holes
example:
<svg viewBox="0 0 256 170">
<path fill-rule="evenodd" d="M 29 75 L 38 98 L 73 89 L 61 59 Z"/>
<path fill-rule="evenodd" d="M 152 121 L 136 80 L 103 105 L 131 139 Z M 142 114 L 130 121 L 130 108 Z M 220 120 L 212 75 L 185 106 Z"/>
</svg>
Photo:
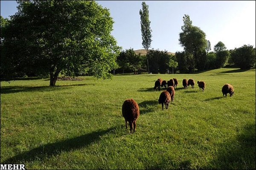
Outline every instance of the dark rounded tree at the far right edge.
<svg viewBox="0 0 256 170">
<path fill-rule="evenodd" d="M 241 69 L 255 67 L 255 48 L 253 45 L 243 45 L 240 48 L 235 48 L 231 57 L 233 62 Z"/>
</svg>

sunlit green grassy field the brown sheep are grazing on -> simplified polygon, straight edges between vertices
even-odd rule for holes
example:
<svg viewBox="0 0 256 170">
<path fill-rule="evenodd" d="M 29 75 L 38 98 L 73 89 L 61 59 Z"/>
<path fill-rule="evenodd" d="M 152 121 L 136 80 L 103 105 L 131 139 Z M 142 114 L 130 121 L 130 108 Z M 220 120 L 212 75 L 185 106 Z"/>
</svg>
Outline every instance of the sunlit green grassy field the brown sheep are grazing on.
<svg viewBox="0 0 256 170">
<path fill-rule="evenodd" d="M 168 110 L 154 91 L 177 78 Z M 114 76 L 82 81 L 1 82 L 1 163 L 27 169 L 255 169 L 255 69 Z M 184 90 L 182 79 L 206 82 Z M 235 95 L 222 96 L 225 83 Z M 122 103 L 140 106 L 125 129 Z"/>
</svg>

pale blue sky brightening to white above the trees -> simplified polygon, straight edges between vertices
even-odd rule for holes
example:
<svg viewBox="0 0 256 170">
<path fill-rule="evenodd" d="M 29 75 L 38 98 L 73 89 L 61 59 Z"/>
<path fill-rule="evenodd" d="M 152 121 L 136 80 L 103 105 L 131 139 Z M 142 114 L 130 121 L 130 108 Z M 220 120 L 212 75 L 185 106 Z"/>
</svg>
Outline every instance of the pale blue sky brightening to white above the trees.
<svg viewBox="0 0 256 170">
<path fill-rule="evenodd" d="M 112 35 L 123 50 L 143 49 L 140 30 L 140 0 L 98 0 L 108 8 L 114 20 Z M 1 0 L 1 15 L 17 12 L 15 1 Z M 188 14 L 193 26 L 198 26 L 214 45 L 223 42 L 227 49 L 256 44 L 256 1 L 145 1 L 149 6 L 152 30 L 151 48 L 175 53 L 183 51 L 179 44 L 183 16 Z"/>
</svg>

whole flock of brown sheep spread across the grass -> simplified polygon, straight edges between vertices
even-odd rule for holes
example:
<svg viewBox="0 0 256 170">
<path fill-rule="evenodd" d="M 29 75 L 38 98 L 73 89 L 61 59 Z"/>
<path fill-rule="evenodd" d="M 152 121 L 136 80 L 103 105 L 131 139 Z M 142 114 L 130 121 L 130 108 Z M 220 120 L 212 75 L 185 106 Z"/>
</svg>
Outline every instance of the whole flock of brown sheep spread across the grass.
<svg viewBox="0 0 256 170">
<path fill-rule="evenodd" d="M 205 88 L 205 82 L 204 81 L 198 81 L 197 82 L 199 90 L 204 91 Z M 161 88 L 166 88 L 166 91 L 163 91 L 158 99 L 159 104 L 162 104 L 162 110 L 163 105 L 165 105 L 166 109 L 169 107 L 169 102 L 174 100 L 175 95 L 175 88 L 177 88 L 178 80 L 173 78 L 166 82 L 166 80 L 162 80 L 161 78 L 157 79 L 154 83 L 154 90 L 160 91 Z M 182 85 L 184 89 L 187 89 L 189 85 L 191 85 L 191 88 L 194 88 L 195 81 L 193 79 L 183 79 Z M 227 97 L 227 94 L 230 94 L 230 97 L 234 94 L 234 88 L 233 85 L 225 84 L 222 87 L 222 94 Z M 126 99 L 125 102 L 122 105 L 122 116 L 125 118 L 125 127 L 127 128 L 127 122 L 129 122 L 130 126 L 130 132 L 132 133 L 132 129 L 135 132 L 136 128 L 136 120 L 138 119 L 140 115 L 139 105 L 134 99 Z"/>
</svg>

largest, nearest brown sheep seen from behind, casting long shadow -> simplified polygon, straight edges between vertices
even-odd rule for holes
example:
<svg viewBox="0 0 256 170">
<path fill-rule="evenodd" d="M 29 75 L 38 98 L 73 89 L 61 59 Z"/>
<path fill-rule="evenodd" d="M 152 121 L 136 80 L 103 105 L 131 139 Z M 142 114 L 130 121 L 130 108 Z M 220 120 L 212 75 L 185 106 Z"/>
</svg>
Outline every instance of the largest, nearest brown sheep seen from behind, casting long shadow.
<svg viewBox="0 0 256 170">
<path fill-rule="evenodd" d="M 125 127 L 127 129 L 127 122 L 130 125 L 130 132 L 132 133 L 132 125 L 134 126 L 134 132 L 136 129 L 136 120 L 140 116 L 140 109 L 137 102 L 134 99 L 126 99 L 122 105 L 122 116 L 125 118 Z"/>
</svg>

